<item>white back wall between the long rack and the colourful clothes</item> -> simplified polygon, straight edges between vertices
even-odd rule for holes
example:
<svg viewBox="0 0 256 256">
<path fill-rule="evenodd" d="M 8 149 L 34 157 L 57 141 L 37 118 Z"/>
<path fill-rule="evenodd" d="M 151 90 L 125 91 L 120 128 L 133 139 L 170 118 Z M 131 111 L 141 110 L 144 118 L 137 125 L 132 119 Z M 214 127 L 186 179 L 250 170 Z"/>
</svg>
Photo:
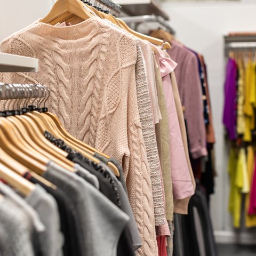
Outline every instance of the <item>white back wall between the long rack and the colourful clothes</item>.
<svg viewBox="0 0 256 256">
<path fill-rule="evenodd" d="M 206 59 L 209 73 L 210 93 L 213 107 L 214 128 L 217 137 L 215 146 L 216 179 L 215 195 L 212 196 L 211 212 L 214 230 L 220 242 L 241 239 L 255 242 L 246 230 L 243 234 L 234 232 L 227 211 L 229 180 L 227 176 L 227 150 L 223 141 L 222 106 L 225 59 L 223 36 L 230 31 L 256 31 L 256 3 L 229 2 L 172 2 L 163 3 L 164 10 L 171 17 L 171 26 L 177 31 L 180 41 L 201 52 Z M 255 230 L 253 230 L 255 231 Z M 252 239 L 251 239 L 252 238 Z"/>
</svg>

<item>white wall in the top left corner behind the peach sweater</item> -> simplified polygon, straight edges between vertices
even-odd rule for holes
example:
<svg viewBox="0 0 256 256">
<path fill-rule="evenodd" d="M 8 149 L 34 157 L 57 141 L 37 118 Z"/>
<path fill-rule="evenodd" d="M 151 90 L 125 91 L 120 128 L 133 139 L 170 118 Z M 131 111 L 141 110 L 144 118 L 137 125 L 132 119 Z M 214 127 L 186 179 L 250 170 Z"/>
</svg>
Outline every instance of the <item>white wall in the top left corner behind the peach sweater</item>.
<svg viewBox="0 0 256 256">
<path fill-rule="evenodd" d="M 52 0 L 0 0 L 0 42 L 35 20 L 43 18 L 52 7 Z"/>
</svg>

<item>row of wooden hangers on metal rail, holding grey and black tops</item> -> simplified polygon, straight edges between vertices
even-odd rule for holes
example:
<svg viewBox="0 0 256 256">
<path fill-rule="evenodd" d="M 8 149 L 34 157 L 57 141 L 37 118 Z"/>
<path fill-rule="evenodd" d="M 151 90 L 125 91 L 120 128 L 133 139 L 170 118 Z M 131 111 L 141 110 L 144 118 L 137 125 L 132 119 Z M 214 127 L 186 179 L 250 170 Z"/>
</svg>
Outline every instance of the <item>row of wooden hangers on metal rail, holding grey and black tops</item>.
<svg viewBox="0 0 256 256">
<path fill-rule="evenodd" d="M 22 177 L 26 172 L 44 182 L 46 186 L 55 188 L 42 177 L 49 160 L 74 172 L 74 163 L 66 158 L 68 153 L 48 141 L 43 135 L 45 131 L 62 139 L 68 146 L 95 163 L 100 163 L 93 156 L 95 152 L 109 158 L 77 140 L 63 128 L 58 117 L 45 107 L 49 96 L 50 90 L 40 84 L 0 83 L 0 99 L 9 99 L 3 104 L 7 110 L 0 111 L 0 178 L 23 195 L 28 195 L 35 188 L 33 183 Z M 117 167 L 112 163 L 108 165 L 119 176 Z"/>
</svg>

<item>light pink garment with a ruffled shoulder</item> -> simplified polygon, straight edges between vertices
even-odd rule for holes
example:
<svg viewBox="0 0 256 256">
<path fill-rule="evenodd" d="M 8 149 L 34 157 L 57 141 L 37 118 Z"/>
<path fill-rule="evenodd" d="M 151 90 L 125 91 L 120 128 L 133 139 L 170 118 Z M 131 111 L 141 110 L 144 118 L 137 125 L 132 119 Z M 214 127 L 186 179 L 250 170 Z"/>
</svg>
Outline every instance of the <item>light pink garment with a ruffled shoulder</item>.
<svg viewBox="0 0 256 256">
<path fill-rule="evenodd" d="M 170 77 L 170 73 L 177 66 L 177 63 L 170 58 L 167 58 L 165 53 L 160 49 L 158 49 L 158 54 L 169 121 L 173 196 L 176 199 L 183 199 L 194 195 L 195 190 L 189 173 L 188 162 L 183 146 Z"/>
</svg>

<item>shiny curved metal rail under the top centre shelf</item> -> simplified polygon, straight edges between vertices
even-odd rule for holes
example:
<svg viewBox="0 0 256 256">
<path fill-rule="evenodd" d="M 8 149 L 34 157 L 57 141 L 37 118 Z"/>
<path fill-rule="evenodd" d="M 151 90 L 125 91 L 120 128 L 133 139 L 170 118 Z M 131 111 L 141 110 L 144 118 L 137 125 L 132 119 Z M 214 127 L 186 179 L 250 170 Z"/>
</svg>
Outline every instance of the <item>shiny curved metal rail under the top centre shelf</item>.
<svg viewBox="0 0 256 256">
<path fill-rule="evenodd" d="M 175 35 L 175 30 L 169 25 L 168 21 L 165 20 L 162 16 L 157 15 L 141 15 L 133 17 L 123 17 L 122 20 L 125 23 L 141 23 L 141 22 L 158 22 L 165 29 L 167 29 L 172 35 Z"/>
</svg>

